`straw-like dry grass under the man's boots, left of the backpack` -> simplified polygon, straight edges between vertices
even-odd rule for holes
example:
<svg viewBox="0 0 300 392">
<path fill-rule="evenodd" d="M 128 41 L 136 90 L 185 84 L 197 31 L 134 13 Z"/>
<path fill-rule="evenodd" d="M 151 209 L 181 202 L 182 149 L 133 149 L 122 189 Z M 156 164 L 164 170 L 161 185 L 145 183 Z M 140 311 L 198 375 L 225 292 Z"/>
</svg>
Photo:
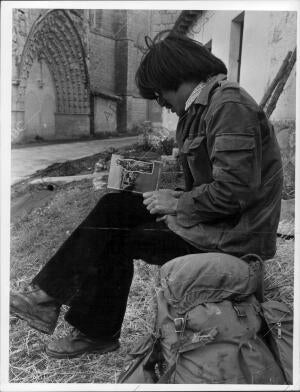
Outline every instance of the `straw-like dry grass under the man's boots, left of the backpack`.
<svg viewBox="0 0 300 392">
<path fill-rule="evenodd" d="M 135 262 L 121 348 L 105 355 L 89 354 L 74 359 L 56 360 L 44 352 L 51 339 L 64 336 L 70 327 L 61 312 L 52 337 L 40 334 L 15 317 L 10 329 L 10 382 L 22 383 L 115 383 L 128 350 L 139 336 L 153 327 L 153 282 L 157 267 Z"/>
</svg>

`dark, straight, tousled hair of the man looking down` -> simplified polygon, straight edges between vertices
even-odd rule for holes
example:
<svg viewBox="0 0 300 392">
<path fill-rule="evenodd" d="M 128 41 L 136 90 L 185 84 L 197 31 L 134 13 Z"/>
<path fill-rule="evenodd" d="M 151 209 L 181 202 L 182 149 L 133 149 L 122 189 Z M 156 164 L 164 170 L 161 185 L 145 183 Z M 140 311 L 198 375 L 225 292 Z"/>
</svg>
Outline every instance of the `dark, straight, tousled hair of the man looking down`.
<svg viewBox="0 0 300 392">
<path fill-rule="evenodd" d="M 153 41 L 149 37 L 145 41 L 148 50 L 135 75 L 143 98 L 155 99 L 161 90 L 176 91 L 182 82 L 200 83 L 219 73 L 227 74 L 220 59 L 200 42 L 184 35 L 163 31 Z"/>
</svg>

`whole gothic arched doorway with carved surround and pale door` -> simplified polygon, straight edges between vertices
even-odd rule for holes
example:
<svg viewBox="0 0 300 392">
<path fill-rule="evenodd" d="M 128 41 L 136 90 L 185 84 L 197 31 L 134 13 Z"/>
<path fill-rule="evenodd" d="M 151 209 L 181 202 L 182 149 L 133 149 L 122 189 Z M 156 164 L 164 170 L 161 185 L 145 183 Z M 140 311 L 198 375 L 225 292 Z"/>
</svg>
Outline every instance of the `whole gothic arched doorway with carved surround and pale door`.
<svg viewBox="0 0 300 392">
<path fill-rule="evenodd" d="M 31 28 L 19 68 L 18 105 L 25 137 L 66 138 L 90 133 L 85 53 L 64 10 L 51 10 Z"/>
</svg>

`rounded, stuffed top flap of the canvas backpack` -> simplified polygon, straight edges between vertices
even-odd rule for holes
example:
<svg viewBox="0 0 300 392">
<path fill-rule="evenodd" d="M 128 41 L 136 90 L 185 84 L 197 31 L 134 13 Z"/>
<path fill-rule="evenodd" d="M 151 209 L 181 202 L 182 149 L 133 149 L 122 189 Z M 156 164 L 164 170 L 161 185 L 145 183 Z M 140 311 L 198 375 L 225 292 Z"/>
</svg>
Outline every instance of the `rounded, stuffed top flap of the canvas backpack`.
<svg viewBox="0 0 300 392">
<path fill-rule="evenodd" d="M 179 314 L 204 303 L 243 301 L 258 284 L 248 263 L 221 253 L 177 257 L 164 264 L 160 274 L 165 300 Z"/>
</svg>

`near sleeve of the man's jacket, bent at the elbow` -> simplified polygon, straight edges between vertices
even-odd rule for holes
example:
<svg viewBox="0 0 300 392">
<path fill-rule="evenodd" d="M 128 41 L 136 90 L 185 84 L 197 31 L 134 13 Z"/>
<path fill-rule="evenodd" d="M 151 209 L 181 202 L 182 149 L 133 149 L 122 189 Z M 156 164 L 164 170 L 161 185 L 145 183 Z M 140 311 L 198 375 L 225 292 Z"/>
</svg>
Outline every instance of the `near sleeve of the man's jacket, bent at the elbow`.
<svg viewBox="0 0 300 392">
<path fill-rule="evenodd" d="M 253 106 L 223 103 L 207 122 L 207 142 L 213 180 L 180 197 L 182 226 L 238 215 L 261 183 L 261 135 Z"/>
</svg>

